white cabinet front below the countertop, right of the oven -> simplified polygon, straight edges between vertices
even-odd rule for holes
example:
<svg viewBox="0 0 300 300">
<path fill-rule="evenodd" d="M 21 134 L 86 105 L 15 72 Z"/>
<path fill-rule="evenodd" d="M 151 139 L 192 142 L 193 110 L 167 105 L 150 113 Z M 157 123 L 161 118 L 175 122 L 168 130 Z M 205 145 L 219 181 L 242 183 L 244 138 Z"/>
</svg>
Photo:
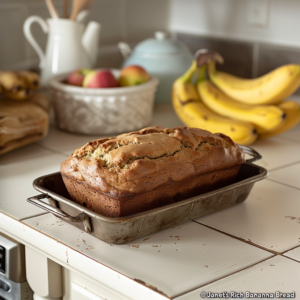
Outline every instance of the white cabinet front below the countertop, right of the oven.
<svg viewBox="0 0 300 300">
<path fill-rule="evenodd" d="M 130 300 L 97 281 L 66 269 L 26 247 L 26 275 L 35 300 Z"/>
</svg>

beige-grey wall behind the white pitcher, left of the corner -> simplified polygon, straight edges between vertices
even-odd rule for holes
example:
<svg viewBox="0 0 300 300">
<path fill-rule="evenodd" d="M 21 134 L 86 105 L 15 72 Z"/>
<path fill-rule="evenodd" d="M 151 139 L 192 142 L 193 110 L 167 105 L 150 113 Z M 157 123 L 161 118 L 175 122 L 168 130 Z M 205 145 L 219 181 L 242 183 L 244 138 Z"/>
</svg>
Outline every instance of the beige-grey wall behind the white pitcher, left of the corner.
<svg viewBox="0 0 300 300">
<path fill-rule="evenodd" d="M 54 3 L 62 15 L 63 1 L 54 0 Z M 71 3 L 69 0 L 70 6 Z M 102 25 L 100 65 L 115 67 L 118 42 L 136 42 L 153 36 L 157 30 L 168 30 L 169 3 L 169 0 L 95 0 L 89 19 Z M 0 0 L 0 69 L 38 66 L 38 57 L 23 34 L 24 21 L 32 15 L 50 17 L 45 0 Z M 45 49 L 47 36 L 38 24 L 32 25 L 32 32 Z"/>
</svg>

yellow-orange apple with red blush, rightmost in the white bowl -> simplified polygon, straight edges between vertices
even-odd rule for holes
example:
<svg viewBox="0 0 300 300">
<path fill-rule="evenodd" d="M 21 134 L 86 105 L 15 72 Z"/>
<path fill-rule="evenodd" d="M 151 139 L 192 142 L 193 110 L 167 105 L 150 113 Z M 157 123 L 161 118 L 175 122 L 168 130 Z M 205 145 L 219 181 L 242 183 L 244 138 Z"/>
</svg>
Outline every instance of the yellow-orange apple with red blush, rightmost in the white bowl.
<svg viewBox="0 0 300 300">
<path fill-rule="evenodd" d="M 150 80 L 150 75 L 141 66 L 130 65 L 121 70 L 119 77 L 120 86 L 142 84 Z"/>
</svg>

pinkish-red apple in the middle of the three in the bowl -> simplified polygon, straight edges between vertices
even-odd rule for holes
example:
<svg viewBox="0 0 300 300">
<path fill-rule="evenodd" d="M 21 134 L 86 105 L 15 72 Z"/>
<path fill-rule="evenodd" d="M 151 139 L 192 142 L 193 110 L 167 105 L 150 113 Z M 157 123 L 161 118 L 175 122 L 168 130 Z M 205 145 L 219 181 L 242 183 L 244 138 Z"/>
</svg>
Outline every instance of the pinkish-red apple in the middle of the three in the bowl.
<svg viewBox="0 0 300 300">
<path fill-rule="evenodd" d="M 109 70 L 92 71 L 83 81 L 83 86 L 88 88 L 113 88 L 118 82 Z"/>
</svg>

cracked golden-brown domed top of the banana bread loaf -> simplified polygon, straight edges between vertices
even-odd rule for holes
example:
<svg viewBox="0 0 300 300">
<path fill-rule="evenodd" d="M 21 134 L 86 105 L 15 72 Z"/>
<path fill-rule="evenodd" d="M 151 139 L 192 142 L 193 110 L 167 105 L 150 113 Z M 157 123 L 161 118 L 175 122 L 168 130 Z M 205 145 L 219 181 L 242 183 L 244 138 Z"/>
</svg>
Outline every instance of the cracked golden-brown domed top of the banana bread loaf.
<svg viewBox="0 0 300 300">
<path fill-rule="evenodd" d="M 224 134 L 148 127 L 87 143 L 61 164 L 61 173 L 123 197 L 244 162 L 243 150 Z"/>
</svg>

